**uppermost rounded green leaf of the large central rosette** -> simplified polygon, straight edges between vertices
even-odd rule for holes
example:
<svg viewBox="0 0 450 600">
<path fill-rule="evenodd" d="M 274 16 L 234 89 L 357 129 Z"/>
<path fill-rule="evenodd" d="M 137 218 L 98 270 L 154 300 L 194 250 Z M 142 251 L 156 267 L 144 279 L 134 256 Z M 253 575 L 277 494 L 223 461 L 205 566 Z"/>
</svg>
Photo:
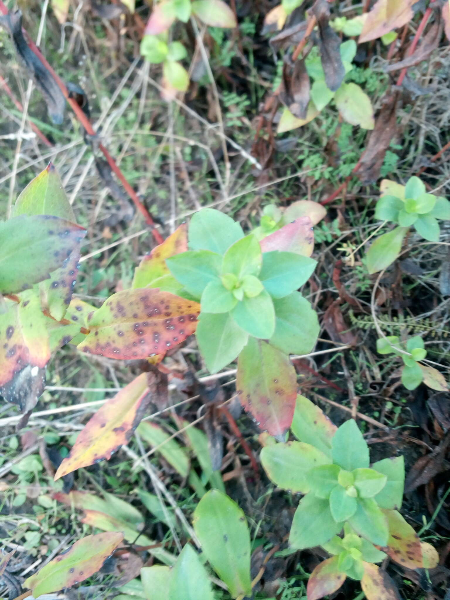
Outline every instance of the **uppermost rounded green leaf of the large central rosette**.
<svg viewBox="0 0 450 600">
<path fill-rule="evenodd" d="M 230 245 L 244 237 L 239 223 L 214 208 L 202 208 L 191 218 L 189 226 L 191 250 L 210 250 L 224 254 Z"/>
</svg>

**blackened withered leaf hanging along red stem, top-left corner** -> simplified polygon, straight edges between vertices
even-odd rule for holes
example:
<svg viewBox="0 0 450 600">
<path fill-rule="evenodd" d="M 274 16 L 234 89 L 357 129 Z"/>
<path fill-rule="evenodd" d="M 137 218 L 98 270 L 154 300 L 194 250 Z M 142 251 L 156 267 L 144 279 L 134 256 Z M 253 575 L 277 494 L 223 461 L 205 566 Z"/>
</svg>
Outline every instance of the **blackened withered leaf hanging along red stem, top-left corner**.
<svg viewBox="0 0 450 600">
<path fill-rule="evenodd" d="M 55 79 L 40 59 L 29 48 L 22 33 L 22 11 L 16 10 L 0 17 L 0 25 L 7 29 L 14 44 L 17 56 L 25 65 L 36 87 L 40 90 L 47 104 L 50 118 L 55 125 L 64 120 L 65 98 Z"/>
</svg>

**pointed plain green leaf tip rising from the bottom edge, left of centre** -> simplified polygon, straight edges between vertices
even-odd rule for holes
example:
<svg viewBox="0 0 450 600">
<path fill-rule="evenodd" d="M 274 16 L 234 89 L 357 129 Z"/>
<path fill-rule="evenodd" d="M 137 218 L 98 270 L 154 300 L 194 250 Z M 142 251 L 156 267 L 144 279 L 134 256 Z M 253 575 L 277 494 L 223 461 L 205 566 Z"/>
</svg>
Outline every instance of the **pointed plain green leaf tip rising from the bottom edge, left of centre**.
<svg viewBox="0 0 450 600">
<path fill-rule="evenodd" d="M 190 544 L 185 545 L 172 568 L 169 589 L 169 600 L 214 600 L 208 573 Z M 155 595 L 151 597 L 158 600 Z"/>
</svg>

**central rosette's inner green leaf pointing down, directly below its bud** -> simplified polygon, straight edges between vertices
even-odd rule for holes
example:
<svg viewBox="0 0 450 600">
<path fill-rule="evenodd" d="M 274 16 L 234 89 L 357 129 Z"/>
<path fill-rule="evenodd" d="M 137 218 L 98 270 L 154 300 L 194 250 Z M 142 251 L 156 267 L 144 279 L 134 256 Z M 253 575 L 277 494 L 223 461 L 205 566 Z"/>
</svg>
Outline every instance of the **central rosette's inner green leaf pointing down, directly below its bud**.
<svg viewBox="0 0 450 600">
<path fill-rule="evenodd" d="M 274 302 L 266 290 L 254 298 L 244 296 L 242 302 L 238 302 L 233 308 L 231 315 L 236 324 L 253 337 L 268 340 L 274 334 Z"/>
</svg>

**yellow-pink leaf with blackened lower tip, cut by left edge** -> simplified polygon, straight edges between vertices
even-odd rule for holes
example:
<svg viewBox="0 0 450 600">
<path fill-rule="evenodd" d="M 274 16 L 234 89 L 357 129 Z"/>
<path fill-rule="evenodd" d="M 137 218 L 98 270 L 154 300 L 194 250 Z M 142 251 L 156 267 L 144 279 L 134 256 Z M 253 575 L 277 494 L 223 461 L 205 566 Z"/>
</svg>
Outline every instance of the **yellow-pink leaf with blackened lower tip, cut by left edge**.
<svg viewBox="0 0 450 600">
<path fill-rule="evenodd" d="M 44 368 L 50 359 L 46 317 L 31 292 L 22 302 L 7 302 L 0 314 L 0 394 L 20 410 L 31 410 L 44 388 Z"/>
</svg>

